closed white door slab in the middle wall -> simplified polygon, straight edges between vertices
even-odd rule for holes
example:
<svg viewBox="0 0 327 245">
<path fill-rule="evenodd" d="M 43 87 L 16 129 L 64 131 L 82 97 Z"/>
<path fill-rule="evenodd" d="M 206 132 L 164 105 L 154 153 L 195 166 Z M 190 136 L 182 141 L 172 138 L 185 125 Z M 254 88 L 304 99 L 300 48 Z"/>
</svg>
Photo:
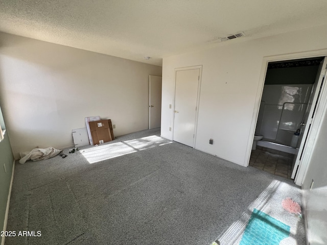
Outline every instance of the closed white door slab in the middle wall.
<svg viewBox="0 0 327 245">
<path fill-rule="evenodd" d="M 200 69 L 176 71 L 173 140 L 193 147 Z"/>
</svg>

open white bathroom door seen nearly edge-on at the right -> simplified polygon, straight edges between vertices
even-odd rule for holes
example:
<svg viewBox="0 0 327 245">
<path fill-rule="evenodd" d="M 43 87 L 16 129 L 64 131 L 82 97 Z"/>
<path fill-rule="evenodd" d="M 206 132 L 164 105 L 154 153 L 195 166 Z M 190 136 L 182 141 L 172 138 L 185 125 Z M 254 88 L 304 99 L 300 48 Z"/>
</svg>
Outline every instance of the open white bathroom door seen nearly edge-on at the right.
<svg viewBox="0 0 327 245">
<path fill-rule="evenodd" d="M 322 61 L 321 65 L 320 65 L 320 68 L 319 68 L 320 70 L 318 70 L 316 82 L 314 84 L 315 91 L 313 91 L 314 94 L 311 95 L 309 107 L 307 110 L 308 112 L 305 115 L 306 121 L 303 121 L 301 124 L 301 131 L 300 131 L 300 137 L 299 137 L 300 143 L 299 143 L 298 153 L 295 155 L 295 162 L 293 163 L 294 167 L 293 167 L 292 176 L 291 176 L 292 179 L 295 178 L 297 169 L 300 166 L 300 163 L 302 160 L 303 153 L 306 150 L 307 139 L 308 139 L 308 135 L 310 133 L 312 120 L 314 118 L 314 115 L 315 115 L 315 112 L 316 112 L 316 109 L 318 106 L 321 88 L 322 88 L 323 82 L 325 80 L 326 65 L 327 65 L 327 59 L 324 58 L 324 60 Z M 311 147 L 311 145 L 309 147 Z"/>
</svg>

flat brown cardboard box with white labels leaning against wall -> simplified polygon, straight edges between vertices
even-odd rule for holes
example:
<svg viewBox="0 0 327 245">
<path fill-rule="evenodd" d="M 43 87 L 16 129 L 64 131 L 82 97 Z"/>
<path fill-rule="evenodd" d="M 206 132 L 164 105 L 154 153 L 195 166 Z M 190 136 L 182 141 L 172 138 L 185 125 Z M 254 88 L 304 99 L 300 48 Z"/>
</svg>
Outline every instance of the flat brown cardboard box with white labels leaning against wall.
<svg viewBox="0 0 327 245">
<path fill-rule="evenodd" d="M 94 144 L 102 144 L 112 140 L 108 120 L 89 121 Z"/>
</svg>

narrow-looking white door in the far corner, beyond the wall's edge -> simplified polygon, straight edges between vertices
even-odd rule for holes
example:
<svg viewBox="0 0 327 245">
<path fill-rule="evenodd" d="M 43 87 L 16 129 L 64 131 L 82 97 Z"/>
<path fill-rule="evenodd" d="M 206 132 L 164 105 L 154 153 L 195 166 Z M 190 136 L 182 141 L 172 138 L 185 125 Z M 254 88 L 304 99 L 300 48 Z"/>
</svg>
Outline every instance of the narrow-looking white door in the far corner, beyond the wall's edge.
<svg viewBox="0 0 327 245">
<path fill-rule="evenodd" d="M 161 87 L 162 77 L 149 76 L 149 129 L 161 125 Z"/>
</svg>

